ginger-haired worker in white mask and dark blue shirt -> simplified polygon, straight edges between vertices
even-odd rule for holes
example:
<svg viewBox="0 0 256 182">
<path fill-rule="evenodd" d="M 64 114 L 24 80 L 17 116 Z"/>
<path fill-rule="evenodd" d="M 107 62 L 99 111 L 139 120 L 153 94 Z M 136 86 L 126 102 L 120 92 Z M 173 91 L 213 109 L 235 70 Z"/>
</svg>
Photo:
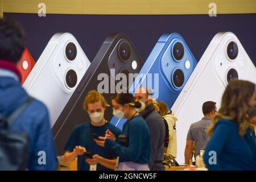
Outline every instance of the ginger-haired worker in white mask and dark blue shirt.
<svg viewBox="0 0 256 182">
<path fill-rule="evenodd" d="M 82 123 L 73 130 L 65 146 L 64 163 L 70 163 L 77 158 L 77 169 L 88 171 L 90 166 L 97 164 L 97 171 L 110 170 L 109 161 L 115 159 L 115 154 L 110 148 L 98 146 L 93 135 L 105 136 L 107 130 L 112 131 L 115 136 L 121 134 L 121 130 L 108 123 L 104 118 L 107 103 L 102 94 L 96 90 L 88 93 L 84 100 L 84 109 L 90 116 L 90 122 Z M 93 158 L 84 156 L 84 152 L 90 152 Z"/>
</svg>

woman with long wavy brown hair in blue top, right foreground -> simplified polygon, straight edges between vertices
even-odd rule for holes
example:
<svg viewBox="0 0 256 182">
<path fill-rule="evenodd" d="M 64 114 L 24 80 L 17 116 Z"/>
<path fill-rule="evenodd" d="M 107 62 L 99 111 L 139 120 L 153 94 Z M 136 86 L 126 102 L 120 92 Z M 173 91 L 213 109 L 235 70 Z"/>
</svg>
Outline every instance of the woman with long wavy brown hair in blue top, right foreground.
<svg viewBox="0 0 256 182">
<path fill-rule="evenodd" d="M 256 105 L 255 84 L 232 80 L 208 129 L 204 152 L 209 170 L 256 170 L 256 143 L 249 115 Z"/>
</svg>

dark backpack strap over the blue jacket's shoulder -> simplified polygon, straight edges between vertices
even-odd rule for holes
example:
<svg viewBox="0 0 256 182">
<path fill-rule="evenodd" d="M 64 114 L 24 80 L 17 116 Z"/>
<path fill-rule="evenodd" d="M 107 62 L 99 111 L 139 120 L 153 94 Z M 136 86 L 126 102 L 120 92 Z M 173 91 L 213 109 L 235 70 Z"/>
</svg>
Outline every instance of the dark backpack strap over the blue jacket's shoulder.
<svg viewBox="0 0 256 182">
<path fill-rule="evenodd" d="M 11 127 L 13 125 L 14 121 L 19 117 L 20 114 L 23 113 L 23 111 L 27 108 L 28 104 L 34 100 L 34 98 L 28 96 L 28 99 L 19 107 L 17 107 L 11 115 L 6 119 L 8 127 Z"/>
</svg>

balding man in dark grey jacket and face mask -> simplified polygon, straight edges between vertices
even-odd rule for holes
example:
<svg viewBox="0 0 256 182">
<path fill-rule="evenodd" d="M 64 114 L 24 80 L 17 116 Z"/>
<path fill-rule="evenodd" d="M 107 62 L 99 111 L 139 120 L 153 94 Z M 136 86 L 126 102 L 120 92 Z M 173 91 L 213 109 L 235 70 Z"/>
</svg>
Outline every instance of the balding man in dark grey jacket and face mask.
<svg viewBox="0 0 256 182">
<path fill-rule="evenodd" d="M 152 171 L 164 171 L 164 138 L 165 126 L 162 117 L 155 111 L 152 104 L 152 92 L 146 87 L 141 87 L 135 91 L 135 100 L 142 104 L 137 111 L 145 119 L 150 130 L 150 152 L 151 160 L 148 163 Z"/>
</svg>

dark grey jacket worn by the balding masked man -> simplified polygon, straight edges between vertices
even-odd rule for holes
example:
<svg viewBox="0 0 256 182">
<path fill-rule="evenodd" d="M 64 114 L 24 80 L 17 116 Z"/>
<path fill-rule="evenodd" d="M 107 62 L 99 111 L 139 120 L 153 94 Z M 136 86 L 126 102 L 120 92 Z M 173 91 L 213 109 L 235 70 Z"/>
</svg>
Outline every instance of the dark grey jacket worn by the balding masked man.
<svg viewBox="0 0 256 182">
<path fill-rule="evenodd" d="M 148 129 L 150 130 L 150 153 L 151 161 L 148 164 L 150 170 L 164 170 L 162 164 L 164 160 L 164 136 L 165 126 L 162 117 L 155 111 L 153 104 L 147 105 L 146 108 L 139 113 L 145 119 Z"/>
</svg>

